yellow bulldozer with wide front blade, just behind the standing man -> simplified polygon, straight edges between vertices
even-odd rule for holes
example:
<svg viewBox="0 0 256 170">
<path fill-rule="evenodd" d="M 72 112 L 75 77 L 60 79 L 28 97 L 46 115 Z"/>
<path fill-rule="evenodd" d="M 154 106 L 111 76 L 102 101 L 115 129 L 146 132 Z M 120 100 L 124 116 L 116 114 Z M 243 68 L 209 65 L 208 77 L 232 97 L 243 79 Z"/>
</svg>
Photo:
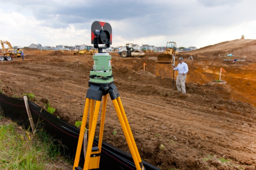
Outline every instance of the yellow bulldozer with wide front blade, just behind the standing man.
<svg viewBox="0 0 256 170">
<path fill-rule="evenodd" d="M 159 63 L 172 63 L 178 58 L 178 51 L 176 47 L 176 42 L 167 42 L 166 51 L 164 54 L 159 54 L 157 56 L 157 62 Z"/>
</svg>

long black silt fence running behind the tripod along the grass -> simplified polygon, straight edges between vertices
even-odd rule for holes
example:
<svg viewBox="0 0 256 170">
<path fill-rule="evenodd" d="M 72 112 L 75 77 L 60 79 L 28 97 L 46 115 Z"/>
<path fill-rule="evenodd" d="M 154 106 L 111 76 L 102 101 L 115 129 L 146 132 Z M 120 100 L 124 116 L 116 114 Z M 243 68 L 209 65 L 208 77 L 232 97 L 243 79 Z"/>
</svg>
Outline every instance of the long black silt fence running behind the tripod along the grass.
<svg viewBox="0 0 256 170">
<path fill-rule="evenodd" d="M 31 101 L 29 101 L 29 107 L 34 124 L 39 125 L 40 129 L 45 130 L 54 139 L 59 140 L 65 146 L 61 148 L 63 154 L 74 160 L 80 130 L 50 114 Z M 0 108 L 3 110 L 6 117 L 16 121 L 18 124 L 23 125 L 26 128 L 29 127 L 29 117 L 22 98 L 12 98 L 0 93 Z M 94 145 L 98 145 L 97 138 L 94 138 Z M 83 167 L 83 151 L 81 152 L 80 160 L 79 166 Z M 142 162 L 146 170 L 160 170 L 147 162 Z M 130 154 L 113 147 L 104 141 L 102 142 L 99 167 L 101 170 L 136 170 Z"/>
</svg>

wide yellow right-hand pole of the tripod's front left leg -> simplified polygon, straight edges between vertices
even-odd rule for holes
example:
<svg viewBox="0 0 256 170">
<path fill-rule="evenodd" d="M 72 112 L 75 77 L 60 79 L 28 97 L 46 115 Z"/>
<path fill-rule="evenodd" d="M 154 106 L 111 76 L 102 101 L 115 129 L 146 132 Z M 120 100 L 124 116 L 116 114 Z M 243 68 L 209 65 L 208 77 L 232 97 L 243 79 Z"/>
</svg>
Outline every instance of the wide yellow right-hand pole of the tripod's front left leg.
<svg viewBox="0 0 256 170">
<path fill-rule="evenodd" d="M 96 130 L 96 124 L 97 124 L 97 119 L 98 119 L 98 115 L 99 115 L 100 105 L 101 105 L 101 101 L 96 101 L 83 170 L 88 170 L 88 167 L 89 167 L 91 150 L 93 147 L 93 139 L 94 139 L 94 134 L 95 134 L 95 130 Z"/>
</svg>

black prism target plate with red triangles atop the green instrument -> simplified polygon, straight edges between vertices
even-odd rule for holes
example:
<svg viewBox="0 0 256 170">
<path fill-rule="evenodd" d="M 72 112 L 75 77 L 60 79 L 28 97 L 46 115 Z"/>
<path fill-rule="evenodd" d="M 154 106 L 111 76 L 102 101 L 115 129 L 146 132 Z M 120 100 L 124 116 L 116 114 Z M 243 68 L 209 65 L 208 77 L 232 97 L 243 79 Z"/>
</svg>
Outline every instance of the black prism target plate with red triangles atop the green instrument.
<svg viewBox="0 0 256 170">
<path fill-rule="evenodd" d="M 112 45 L 112 27 L 109 23 L 93 22 L 91 25 L 91 43 L 98 49 L 108 49 Z M 105 44 L 105 47 L 99 47 L 99 44 Z"/>
</svg>

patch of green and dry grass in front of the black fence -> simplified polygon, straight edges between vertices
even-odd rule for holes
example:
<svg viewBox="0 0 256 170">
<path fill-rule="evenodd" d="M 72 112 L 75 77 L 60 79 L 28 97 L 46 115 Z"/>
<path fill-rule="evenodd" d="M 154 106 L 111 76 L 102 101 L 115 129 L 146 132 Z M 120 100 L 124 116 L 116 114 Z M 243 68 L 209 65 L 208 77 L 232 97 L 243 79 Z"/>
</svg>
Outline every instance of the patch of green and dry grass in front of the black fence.
<svg viewBox="0 0 256 170">
<path fill-rule="evenodd" d="M 0 116 L 0 169 L 72 169 L 67 159 L 60 156 L 60 146 L 52 138 L 44 131 L 36 134 Z"/>
</svg>

